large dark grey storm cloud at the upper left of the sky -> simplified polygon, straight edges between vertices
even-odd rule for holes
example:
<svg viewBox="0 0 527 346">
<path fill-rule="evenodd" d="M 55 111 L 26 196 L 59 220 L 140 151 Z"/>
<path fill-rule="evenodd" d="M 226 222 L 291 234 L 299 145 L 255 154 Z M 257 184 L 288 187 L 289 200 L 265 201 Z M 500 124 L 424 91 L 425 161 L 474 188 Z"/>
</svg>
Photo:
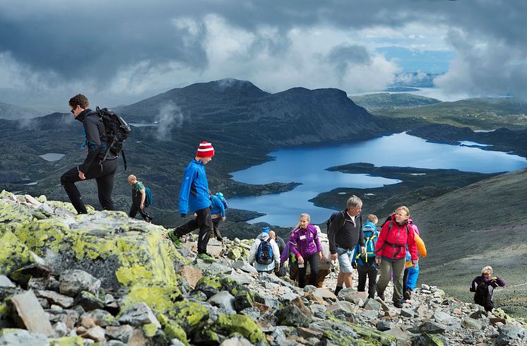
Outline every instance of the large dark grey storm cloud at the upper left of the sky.
<svg viewBox="0 0 527 346">
<path fill-rule="evenodd" d="M 119 66 L 139 61 L 175 60 L 195 68 L 207 64 L 203 32 L 191 35 L 176 28 L 169 13 L 158 13 L 158 18 L 140 8 L 121 11 L 96 2 L 92 8 L 69 6 L 58 15 L 51 8 L 42 8 L 40 14 L 38 6 L 18 16 L 0 10 L 0 52 L 10 52 L 35 71 L 52 70 L 63 78 L 112 77 Z"/>
</svg>

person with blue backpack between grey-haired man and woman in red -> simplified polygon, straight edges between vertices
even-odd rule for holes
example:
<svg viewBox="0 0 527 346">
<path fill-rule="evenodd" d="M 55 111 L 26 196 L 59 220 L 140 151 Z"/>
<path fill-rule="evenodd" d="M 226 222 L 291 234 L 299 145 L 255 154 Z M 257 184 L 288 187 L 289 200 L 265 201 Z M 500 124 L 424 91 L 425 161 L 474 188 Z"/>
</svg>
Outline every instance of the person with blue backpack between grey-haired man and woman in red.
<svg viewBox="0 0 527 346">
<path fill-rule="evenodd" d="M 379 237 L 377 222 L 377 216 L 373 214 L 368 215 L 368 221 L 362 226 L 366 254 L 364 256 L 361 255 L 359 244 L 357 244 L 355 246 L 356 255 L 353 256 L 353 260 L 351 261 L 351 266 L 357 268 L 357 272 L 359 273 L 357 291 L 365 292 L 367 275 L 368 297 L 372 299 L 375 297 L 375 289 L 377 287 L 377 264 L 375 263 L 375 244 L 377 244 L 377 237 Z"/>
</svg>

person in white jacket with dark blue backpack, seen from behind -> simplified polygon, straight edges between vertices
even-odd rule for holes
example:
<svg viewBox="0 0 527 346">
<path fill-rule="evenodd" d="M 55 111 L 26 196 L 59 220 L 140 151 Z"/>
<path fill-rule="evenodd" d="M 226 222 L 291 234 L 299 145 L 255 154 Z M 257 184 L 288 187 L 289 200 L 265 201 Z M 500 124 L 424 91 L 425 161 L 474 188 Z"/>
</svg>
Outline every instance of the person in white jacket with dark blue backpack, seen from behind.
<svg viewBox="0 0 527 346">
<path fill-rule="evenodd" d="M 269 227 L 262 227 L 249 251 L 249 263 L 258 273 L 272 274 L 280 266 L 280 250 L 276 241 L 269 236 L 269 232 Z"/>
</svg>

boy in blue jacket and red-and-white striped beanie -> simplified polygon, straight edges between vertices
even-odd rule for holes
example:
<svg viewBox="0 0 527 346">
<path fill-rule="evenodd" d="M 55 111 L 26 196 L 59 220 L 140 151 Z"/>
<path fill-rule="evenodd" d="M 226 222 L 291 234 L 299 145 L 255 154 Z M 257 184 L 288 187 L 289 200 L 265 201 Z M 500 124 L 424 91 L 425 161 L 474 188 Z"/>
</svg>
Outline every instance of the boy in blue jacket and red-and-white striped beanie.
<svg viewBox="0 0 527 346">
<path fill-rule="evenodd" d="M 208 198 L 208 182 L 205 165 L 211 162 L 214 148 L 211 143 L 199 144 L 196 157 L 185 168 L 181 190 L 179 190 L 179 215 L 186 217 L 188 213 L 196 213 L 196 218 L 168 232 L 168 237 L 174 246 L 181 249 L 179 238 L 199 228 L 198 258 L 214 261 L 207 253 L 208 239 L 213 232 L 211 218 L 211 200 Z"/>
</svg>

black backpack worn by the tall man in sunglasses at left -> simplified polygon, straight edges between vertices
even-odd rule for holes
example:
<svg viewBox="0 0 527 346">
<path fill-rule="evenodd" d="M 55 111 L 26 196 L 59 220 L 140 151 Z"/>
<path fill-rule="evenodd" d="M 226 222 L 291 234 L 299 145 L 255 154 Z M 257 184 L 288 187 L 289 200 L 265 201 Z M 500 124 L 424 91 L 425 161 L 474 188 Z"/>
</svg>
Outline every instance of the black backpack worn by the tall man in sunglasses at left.
<svg viewBox="0 0 527 346">
<path fill-rule="evenodd" d="M 124 121 L 121 116 L 115 114 L 112 109 L 100 109 L 97 106 L 96 112 L 102 120 L 102 123 L 105 124 L 106 133 L 104 137 L 106 143 L 108 144 L 105 157 L 101 160 L 100 164 L 102 165 L 102 162 L 105 162 L 108 153 L 112 153 L 113 155 L 122 155 L 124 170 L 126 171 L 126 157 L 124 156 L 123 142 L 126 141 L 128 136 L 130 136 L 131 127 L 129 124 L 126 124 L 126 121 Z"/>
</svg>

